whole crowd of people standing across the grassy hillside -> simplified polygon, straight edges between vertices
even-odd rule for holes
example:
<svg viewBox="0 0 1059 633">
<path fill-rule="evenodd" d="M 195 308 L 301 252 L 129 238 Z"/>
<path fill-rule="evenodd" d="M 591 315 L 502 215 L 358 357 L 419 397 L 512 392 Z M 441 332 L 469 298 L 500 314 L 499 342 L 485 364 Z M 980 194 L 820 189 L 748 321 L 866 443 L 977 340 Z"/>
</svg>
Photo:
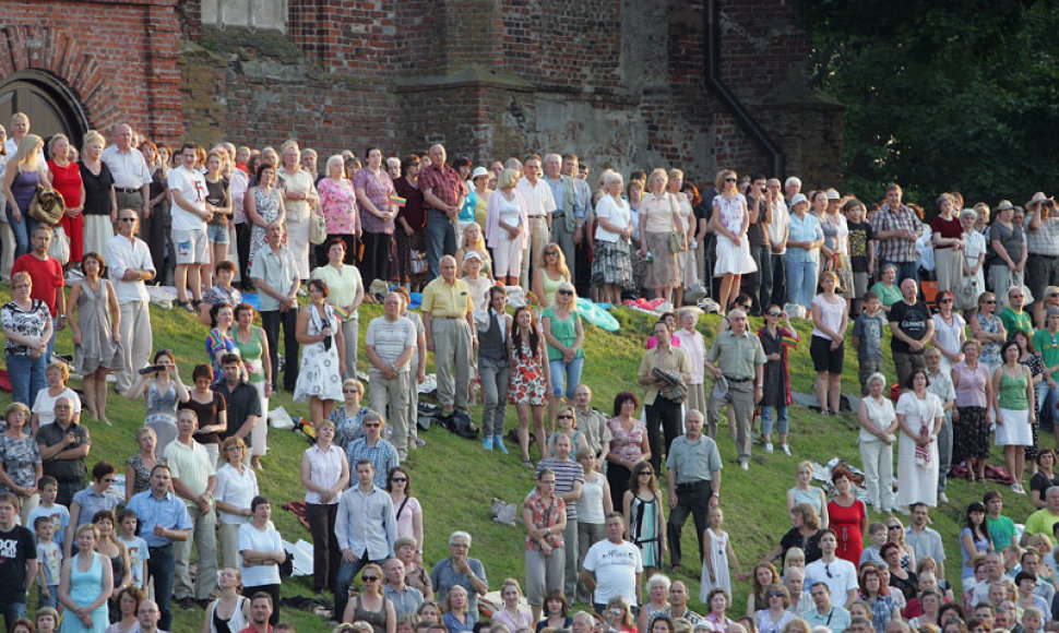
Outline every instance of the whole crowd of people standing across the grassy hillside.
<svg viewBox="0 0 1059 633">
<path fill-rule="evenodd" d="M 289 561 L 258 485 L 276 468 L 266 417 L 281 389 L 308 403 L 316 432 L 299 473 L 312 583 L 317 597 L 333 595 L 343 630 L 1054 628 L 1059 476 L 1037 431 L 1054 423 L 1059 396 L 1059 215 L 1043 193 L 995 210 L 944 193 L 925 224 L 896 184 L 872 204 L 730 169 L 703 192 L 679 169 L 634 171 L 628 184 L 605 169 L 590 183 L 574 155 L 486 168 L 450 163 L 440 144 L 404 158 L 349 151 L 321 174 L 295 141 L 170 148 L 119 124 L 76 150 L 61 134 L 45 145 L 24 114 L 10 132 L 0 153 L 0 277 L 11 284 L 0 325 L 14 401 L 0 435 L 9 631 L 167 631 L 172 602 L 203 609 L 203 633 L 285 628 Z M 155 349 L 147 288 L 170 280 L 176 309 L 202 324 L 198 358 Z M 593 404 L 579 295 L 657 314 L 640 389 L 612 406 Z M 706 295 L 722 312 L 711 341 L 698 327 Z M 383 314 L 360 341 L 364 301 Z M 751 316 L 763 318 L 757 332 Z M 766 453 L 798 454 L 788 353 L 806 342 L 793 319 L 812 322 L 822 416 L 843 410 L 847 338 L 856 348 L 867 502 L 845 466 L 830 471 L 829 500 L 812 465 L 798 463 L 792 528 L 745 572 L 724 530 L 718 430 L 727 422 L 741 471 L 755 435 Z M 55 349 L 64 327 L 72 362 Z M 449 535 L 448 558 L 423 560 L 424 509 L 403 464 L 425 445 L 416 386 L 428 357 L 445 420 L 468 420 L 480 398 L 484 458 L 509 452 L 514 407 L 511 441 L 535 474 L 521 504 L 524 578 L 490 584 L 466 532 Z M 190 384 L 179 362 L 194 362 Z M 110 423 L 111 373 L 117 394 L 144 402 L 138 452 L 119 465 L 90 459 L 91 426 Z M 1003 468 L 987 464 L 995 444 Z M 1039 510 L 1020 537 L 1000 492 L 986 491 L 960 534 L 962 586 L 949 586 L 929 527 L 948 478 L 1008 478 L 1026 494 L 1027 462 Z M 689 515 L 703 613 L 689 608 L 688 584 L 664 573 L 693 569 L 680 547 Z M 741 613 L 731 588 L 746 581 Z M 479 608 L 498 586 L 502 604 Z M 592 609 L 572 613 L 572 602 Z"/>
</svg>

